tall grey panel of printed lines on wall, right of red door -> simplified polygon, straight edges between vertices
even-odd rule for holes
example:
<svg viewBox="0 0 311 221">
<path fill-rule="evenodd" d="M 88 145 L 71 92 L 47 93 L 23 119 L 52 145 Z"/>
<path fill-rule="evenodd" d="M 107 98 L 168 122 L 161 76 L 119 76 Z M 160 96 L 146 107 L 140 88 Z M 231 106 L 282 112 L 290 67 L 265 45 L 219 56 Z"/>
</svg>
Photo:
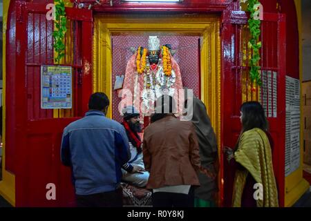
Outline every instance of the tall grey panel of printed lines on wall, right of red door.
<svg viewBox="0 0 311 221">
<path fill-rule="evenodd" d="M 286 76 L 285 176 L 300 166 L 300 81 Z"/>
</svg>

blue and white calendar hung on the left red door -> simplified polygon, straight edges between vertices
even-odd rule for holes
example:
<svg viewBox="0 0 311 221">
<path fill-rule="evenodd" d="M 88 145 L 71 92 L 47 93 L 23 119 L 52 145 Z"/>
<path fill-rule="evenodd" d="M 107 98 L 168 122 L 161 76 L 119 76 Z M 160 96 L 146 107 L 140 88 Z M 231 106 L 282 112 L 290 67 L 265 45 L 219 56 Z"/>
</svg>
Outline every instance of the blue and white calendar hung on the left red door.
<svg viewBox="0 0 311 221">
<path fill-rule="evenodd" d="M 41 66 L 41 108 L 72 108 L 70 66 Z"/>
</svg>

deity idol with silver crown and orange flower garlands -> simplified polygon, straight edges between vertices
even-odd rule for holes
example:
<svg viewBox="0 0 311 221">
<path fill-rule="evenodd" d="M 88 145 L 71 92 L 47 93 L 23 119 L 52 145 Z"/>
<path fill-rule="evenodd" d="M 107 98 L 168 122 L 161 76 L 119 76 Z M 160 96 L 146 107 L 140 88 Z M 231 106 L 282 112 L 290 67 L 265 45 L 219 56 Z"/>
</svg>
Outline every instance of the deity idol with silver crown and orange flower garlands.
<svg viewBox="0 0 311 221">
<path fill-rule="evenodd" d="M 158 37 L 149 36 L 148 48 L 138 47 L 126 66 L 123 89 L 131 91 L 131 105 L 143 115 L 152 113 L 154 102 L 162 95 L 170 95 L 178 104 L 182 79 L 170 50 L 170 45 L 161 46 Z M 126 90 L 122 97 L 124 93 Z"/>
</svg>

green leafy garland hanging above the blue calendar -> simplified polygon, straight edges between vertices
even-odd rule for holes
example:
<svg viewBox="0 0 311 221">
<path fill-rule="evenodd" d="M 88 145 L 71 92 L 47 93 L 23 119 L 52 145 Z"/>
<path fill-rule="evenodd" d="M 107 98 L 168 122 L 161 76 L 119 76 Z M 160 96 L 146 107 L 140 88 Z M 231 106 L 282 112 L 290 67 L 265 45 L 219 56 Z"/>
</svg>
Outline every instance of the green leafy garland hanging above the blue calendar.
<svg viewBox="0 0 311 221">
<path fill-rule="evenodd" d="M 55 0 L 55 27 L 53 32 L 54 38 L 54 49 L 57 52 L 57 57 L 55 57 L 55 62 L 59 64 L 60 60 L 65 56 L 64 50 L 64 37 L 67 31 L 66 28 L 66 12 L 64 0 Z"/>
</svg>

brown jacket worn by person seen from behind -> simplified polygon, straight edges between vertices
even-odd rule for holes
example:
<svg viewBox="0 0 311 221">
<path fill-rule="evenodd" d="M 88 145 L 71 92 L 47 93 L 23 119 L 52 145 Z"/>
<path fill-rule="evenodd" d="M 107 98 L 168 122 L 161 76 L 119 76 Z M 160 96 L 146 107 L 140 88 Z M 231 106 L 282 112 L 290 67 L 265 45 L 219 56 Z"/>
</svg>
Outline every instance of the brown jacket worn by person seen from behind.
<svg viewBox="0 0 311 221">
<path fill-rule="evenodd" d="M 150 172 L 147 189 L 163 186 L 199 186 L 198 140 L 191 122 L 173 115 L 159 119 L 144 131 L 144 167 Z"/>
</svg>

